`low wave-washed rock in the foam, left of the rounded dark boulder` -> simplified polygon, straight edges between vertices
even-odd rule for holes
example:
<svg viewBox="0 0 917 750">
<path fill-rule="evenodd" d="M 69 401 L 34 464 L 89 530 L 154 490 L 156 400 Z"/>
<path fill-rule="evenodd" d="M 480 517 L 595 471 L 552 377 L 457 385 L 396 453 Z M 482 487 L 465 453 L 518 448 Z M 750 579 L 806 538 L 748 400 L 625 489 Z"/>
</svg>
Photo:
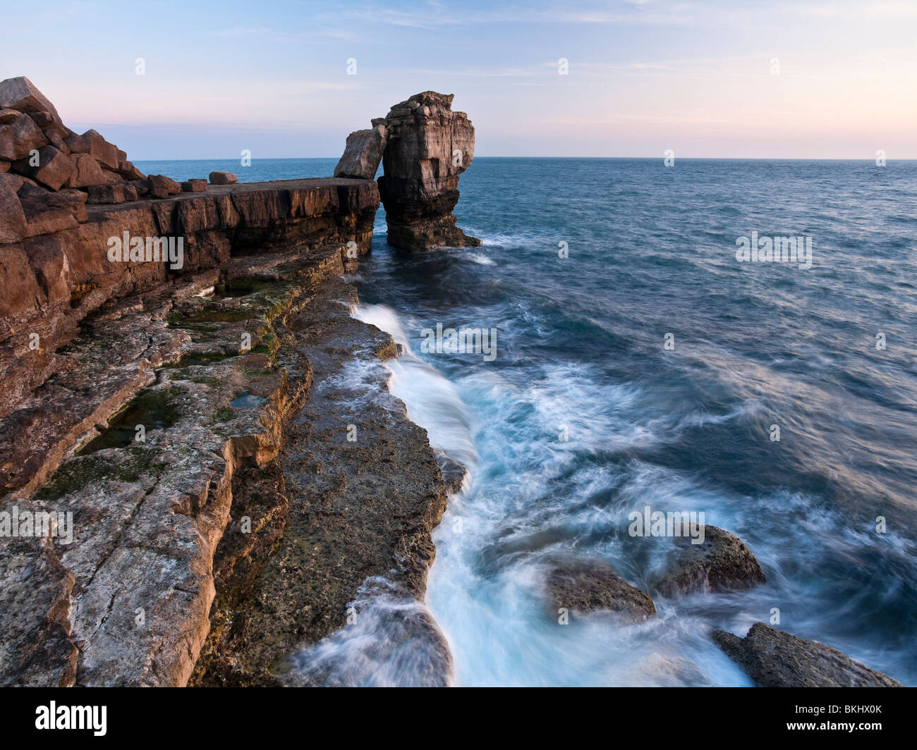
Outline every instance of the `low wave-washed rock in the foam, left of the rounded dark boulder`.
<svg viewBox="0 0 917 750">
<path fill-rule="evenodd" d="M 646 591 L 631 586 L 601 560 L 562 560 L 545 579 L 552 614 L 564 608 L 573 612 L 603 611 L 621 623 L 642 623 L 656 616 L 656 606 Z"/>
</svg>

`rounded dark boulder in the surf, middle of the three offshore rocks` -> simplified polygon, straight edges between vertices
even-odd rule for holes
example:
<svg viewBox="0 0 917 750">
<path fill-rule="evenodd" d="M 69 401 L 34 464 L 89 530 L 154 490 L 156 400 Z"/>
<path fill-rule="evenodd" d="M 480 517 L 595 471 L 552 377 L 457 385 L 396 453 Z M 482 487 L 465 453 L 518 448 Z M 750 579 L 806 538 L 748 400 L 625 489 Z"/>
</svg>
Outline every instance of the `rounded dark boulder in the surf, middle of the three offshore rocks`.
<svg viewBox="0 0 917 750">
<path fill-rule="evenodd" d="M 716 526 L 704 526 L 700 545 L 693 544 L 690 536 L 675 536 L 672 541 L 677 547 L 675 554 L 653 585 L 663 596 L 747 589 L 767 580 L 745 542 Z"/>
</svg>

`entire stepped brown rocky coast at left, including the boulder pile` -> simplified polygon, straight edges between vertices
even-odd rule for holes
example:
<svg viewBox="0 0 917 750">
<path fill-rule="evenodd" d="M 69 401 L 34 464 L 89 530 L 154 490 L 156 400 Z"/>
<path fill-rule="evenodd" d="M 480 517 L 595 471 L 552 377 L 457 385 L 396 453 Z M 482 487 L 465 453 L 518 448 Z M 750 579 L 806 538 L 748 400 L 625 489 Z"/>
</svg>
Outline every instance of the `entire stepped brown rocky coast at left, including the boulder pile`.
<svg viewBox="0 0 917 750">
<path fill-rule="evenodd" d="M 340 278 L 376 184 L 180 184 L 0 105 L 0 684 L 328 678 L 291 657 L 364 579 L 422 601 L 446 503 Z"/>
</svg>

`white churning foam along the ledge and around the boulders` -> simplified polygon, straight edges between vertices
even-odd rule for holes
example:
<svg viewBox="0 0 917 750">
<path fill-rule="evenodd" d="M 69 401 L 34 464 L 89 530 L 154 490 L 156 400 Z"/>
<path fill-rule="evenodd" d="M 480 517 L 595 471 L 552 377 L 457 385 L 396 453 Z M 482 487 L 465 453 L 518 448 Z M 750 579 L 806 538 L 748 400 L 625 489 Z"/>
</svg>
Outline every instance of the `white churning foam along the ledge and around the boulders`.
<svg viewBox="0 0 917 750">
<path fill-rule="evenodd" d="M 434 532 L 436 561 L 427 584 L 428 606 L 452 647 L 457 684 L 748 685 L 713 644 L 711 629 L 744 634 L 768 622 L 779 602 L 793 618 L 790 632 L 817 637 L 825 620 L 812 602 L 834 582 L 808 577 L 801 585 L 798 571 L 823 560 L 826 549 L 856 557 L 864 545 L 878 544 L 874 537 L 854 538 L 849 524 L 805 495 L 751 502 L 691 472 L 605 458 L 676 444 L 688 430 L 758 414 L 763 406 L 753 394 L 724 414 L 690 407 L 666 413 L 643 387 L 610 383 L 598 369 L 562 361 L 528 363 L 525 378 L 477 367 L 457 369 L 448 381 L 414 355 L 404 333 L 409 319 L 384 305 L 360 305 L 355 314 L 403 346 L 403 356 L 388 364 L 392 393 L 434 446 L 474 471 Z M 561 425 L 567 440 L 558 435 Z M 625 538 L 627 514 L 646 504 L 703 511 L 708 524 L 752 547 L 768 583 L 715 597 L 657 596 L 657 619 L 636 625 L 613 625 L 601 615 L 559 624 L 542 584 L 549 556 L 598 557 L 649 589 L 667 564 L 666 540 Z M 779 546 L 775 538 L 783 540 Z M 843 639 L 832 645 L 883 663 L 878 646 Z"/>
</svg>

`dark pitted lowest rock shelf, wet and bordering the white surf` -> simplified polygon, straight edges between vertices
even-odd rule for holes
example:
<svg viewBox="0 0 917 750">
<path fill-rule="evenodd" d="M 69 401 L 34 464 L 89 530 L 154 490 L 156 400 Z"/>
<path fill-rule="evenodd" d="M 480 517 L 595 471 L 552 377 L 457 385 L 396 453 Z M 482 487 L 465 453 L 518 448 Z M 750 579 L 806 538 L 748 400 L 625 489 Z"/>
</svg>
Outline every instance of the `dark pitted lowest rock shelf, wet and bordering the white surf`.
<svg viewBox="0 0 917 750">
<path fill-rule="evenodd" d="M 331 258 L 337 268 L 341 258 Z M 416 601 L 433 559 L 430 532 L 446 507 L 445 486 L 425 431 L 385 386 L 380 360 L 394 355 L 392 339 L 352 318 L 348 304 L 354 302 L 352 288 L 332 276 L 278 328 L 285 360 L 304 371 L 311 387 L 287 425 L 281 473 L 260 493 L 272 502 L 253 503 L 247 481 L 232 514 L 237 521 L 248 515 L 260 528 L 285 524 L 285 530 L 282 538 L 268 536 L 277 549 L 264 559 L 251 535 L 236 524 L 227 528 L 215 562 L 221 572 L 214 631 L 195 675 L 198 684 L 363 684 L 394 643 L 377 638 L 357 665 L 331 665 L 303 648 L 344 625 L 355 597 L 358 620 L 391 617 L 387 632 L 398 632 L 393 640 L 413 649 L 420 668 L 401 678 L 447 684 L 445 639 Z M 340 403 L 352 404 L 347 420 L 359 425 L 356 443 L 341 429 Z M 260 572 L 256 565 L 263 566 Z M 364 591 L 365 582 L 377 577 L 387 580 L 384 590 Z M 391 612 L 376 608 L 377 596 L 398 603 Z"/>
</svg>

